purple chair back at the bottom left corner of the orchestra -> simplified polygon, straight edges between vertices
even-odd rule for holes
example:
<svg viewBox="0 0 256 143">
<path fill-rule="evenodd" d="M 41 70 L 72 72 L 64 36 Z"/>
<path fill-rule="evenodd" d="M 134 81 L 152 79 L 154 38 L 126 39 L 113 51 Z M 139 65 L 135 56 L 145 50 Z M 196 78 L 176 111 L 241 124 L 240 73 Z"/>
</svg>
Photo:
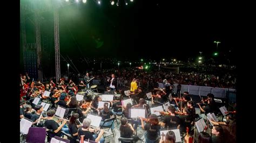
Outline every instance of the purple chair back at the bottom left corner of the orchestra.
<svg viewBox="0 0 256 143">
<path fill-rule="evenodd" d="M 45 142 L 46 128 L 43 127 L 30 127 L 26 142 Z"/>
</svg>

